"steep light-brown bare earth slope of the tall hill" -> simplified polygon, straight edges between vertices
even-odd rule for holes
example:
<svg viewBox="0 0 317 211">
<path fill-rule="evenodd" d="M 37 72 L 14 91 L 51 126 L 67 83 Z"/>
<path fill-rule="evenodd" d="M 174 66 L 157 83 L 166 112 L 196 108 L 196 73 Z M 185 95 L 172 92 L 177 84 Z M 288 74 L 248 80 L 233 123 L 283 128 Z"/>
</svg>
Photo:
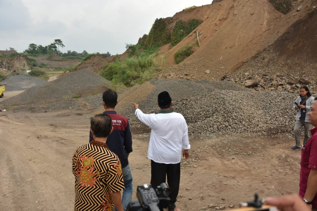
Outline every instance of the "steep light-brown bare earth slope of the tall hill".
<svg viewBox="0 0 317 211">
<path fill-rule="evenodd" d="M 275 10 L 268 1 L 262 0 L 224 0 L 203 6 L 202 9 L 197 8 L 196 13 L 201 12 L 201 16 L 205 14 L 204 22 L 196 29 L 201 47 L 196 47 L 195 52 L 184 62 L 173 65 L 168 70 L 175 72 L 176 77 L 183 76 L 184 73 L 190 74 L 191 80 L 219 78 L 230 74 L 284 33 L 300 30 L 299 27 L 292 28 L 292 25 L 307 19 L 307 15 L 314 11 L 315 4 L 316 1 L 303 0 L 287 15 Z M 301 6 L 301 10 L 297 11 Z M 294 38 L 293 43 L 296 42 Z M 192 33 L 168 50 L 167 64 L 172 65 L 173 54 L 195 39 L 196 33 Z M 205 74 L 206 70 L 210 70 L 210 74 Z"/>
</svg>

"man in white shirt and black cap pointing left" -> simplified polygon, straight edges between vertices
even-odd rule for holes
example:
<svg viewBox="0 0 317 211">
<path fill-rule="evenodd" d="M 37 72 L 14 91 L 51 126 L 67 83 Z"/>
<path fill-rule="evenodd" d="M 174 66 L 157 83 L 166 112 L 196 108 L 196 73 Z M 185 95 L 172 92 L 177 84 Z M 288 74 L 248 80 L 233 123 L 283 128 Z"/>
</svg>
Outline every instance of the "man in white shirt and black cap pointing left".
<svg viewBox="0 0 317 211">
<path fill-rule="evenodd" d="M 173 112 L 171 96 L 168 92 L 161 92 L 158 96 L 158 105 L 161 111 L 158 114 L 144 114 L 139 105 L 132 103 L 135 115 L 151 130 L 147 157 L 151 159 L 151 185 L 156 188 L 166 181 L 171 188 L 169 204 L 160 203 L 160 209 L 175 209 L 180 181 L 180 161 L 182 156 L 189 158 L 188 149 L 191 148 L 188 139 L 188 127 L 184 116 Z"/>
</svg>

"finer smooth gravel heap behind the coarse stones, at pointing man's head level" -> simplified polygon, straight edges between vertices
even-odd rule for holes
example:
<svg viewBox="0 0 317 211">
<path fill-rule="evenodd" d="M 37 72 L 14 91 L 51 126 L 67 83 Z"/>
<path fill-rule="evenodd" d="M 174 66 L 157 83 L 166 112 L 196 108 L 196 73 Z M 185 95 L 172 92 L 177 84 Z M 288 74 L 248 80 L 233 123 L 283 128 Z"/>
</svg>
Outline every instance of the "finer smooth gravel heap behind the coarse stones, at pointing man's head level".
<svg viewBox="0 0 317 211">
<path fill-rule="evenodd" d="M 168 91 L 172 96 L 173 102 L 176 100 L 187 99 L 194 96 L 201 96 L 217 90 L 238 90 L 247 91 L 249 89 L 240 87 L 227 81 L 188 81 L 184 79 L 152 79 L 141 85 L 133 86 L 126 92 L 118 96 L 116 110 L 119 114 L 133 117 L 134 110 L 131 102 L 140 105 L 144 112 L 152 111 L 157 107 L 157 96 L 162 91 Z M 103 108 L 98 109 L 94 114 L 102 113 Z"/>
</svg>

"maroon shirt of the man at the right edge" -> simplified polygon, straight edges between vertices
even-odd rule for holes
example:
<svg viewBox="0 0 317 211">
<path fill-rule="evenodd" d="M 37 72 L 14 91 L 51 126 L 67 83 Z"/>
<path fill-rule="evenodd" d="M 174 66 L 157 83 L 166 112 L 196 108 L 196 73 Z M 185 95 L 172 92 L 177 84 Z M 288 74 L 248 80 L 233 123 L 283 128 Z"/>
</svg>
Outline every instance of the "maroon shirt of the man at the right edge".
<svg viewBox="0 0 317 211">
<path fill-rule="evenodd" d="M 301 174 L 299 181 L 299 196 L 304 198 L 310 169 L 317 169 L 317 127 L 310 130 L 312 137 L 301 151 Z M 317 208 L 317 195 L 313 199 L 313 208 Z"/>
</svg>

